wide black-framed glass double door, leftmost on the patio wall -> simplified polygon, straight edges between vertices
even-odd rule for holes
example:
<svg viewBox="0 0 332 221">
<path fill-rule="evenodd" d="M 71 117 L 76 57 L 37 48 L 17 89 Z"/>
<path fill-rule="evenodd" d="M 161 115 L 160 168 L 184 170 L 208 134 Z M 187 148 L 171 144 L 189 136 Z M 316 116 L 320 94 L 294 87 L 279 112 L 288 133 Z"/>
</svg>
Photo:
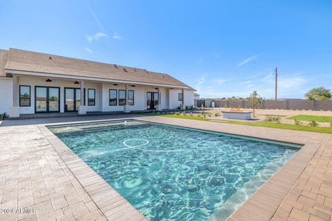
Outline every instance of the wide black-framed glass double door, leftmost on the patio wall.
<svg viewBox="0 0 332 221">
<path fill-rule="evenodd" d="M 60 88 L 35 86 L 35 113 L 60 111 Z"/>
</svg>

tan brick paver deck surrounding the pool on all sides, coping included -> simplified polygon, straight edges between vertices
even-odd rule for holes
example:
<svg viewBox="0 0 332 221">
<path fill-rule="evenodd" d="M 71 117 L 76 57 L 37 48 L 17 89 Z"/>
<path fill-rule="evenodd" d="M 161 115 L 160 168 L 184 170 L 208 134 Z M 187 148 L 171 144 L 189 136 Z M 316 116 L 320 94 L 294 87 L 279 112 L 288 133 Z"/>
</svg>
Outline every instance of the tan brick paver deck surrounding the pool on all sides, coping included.
<svg viewBox="0 0 332 221">
<path fill-rule="evenodd" d="M 147 220 L 45 126 L 113 119 L 304 144 L 228 220 L 332 221 L 332 135 L 140 115 L 6 121 L 0 126 L 0 210 L 15 211 L 0 211 L 0 220 Z M 33 213 L 17 213 L 22 208 Z"/>
</svg>

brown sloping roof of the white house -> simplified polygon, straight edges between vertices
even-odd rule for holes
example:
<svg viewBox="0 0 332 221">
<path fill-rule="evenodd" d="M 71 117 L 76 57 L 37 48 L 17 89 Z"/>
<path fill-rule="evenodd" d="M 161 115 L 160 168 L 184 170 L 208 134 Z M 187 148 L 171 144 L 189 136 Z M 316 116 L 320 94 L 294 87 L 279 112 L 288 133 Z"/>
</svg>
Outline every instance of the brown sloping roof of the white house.
<svg viewBox="0 0 332 221">
<path fill-rule="evenodd" d="M 1 57 L 3 57 L 1 53 L 6 54 L 6 51 L 3 52 L 3 50 L 0 50 L 0 68 Z M 96 77 L 120 81 L 165 84 L 170 86 L 185 86 L 188 87 L 189 90 L 194 90 L 194 88 L 187 86 L 187 84 L 184 84 L 170 75 L 156 73 L 141 68 L 130 68 L 126 66 L 118 66 L 116 64 L 105 64 L 97 61 L 87 61 L 14 48 L 10 48 L 7 53 L 8 60 L 5 69 L 8 70 L 23 70 L 37 73 L 72 75 L 77 77 Z"/>
</svg>

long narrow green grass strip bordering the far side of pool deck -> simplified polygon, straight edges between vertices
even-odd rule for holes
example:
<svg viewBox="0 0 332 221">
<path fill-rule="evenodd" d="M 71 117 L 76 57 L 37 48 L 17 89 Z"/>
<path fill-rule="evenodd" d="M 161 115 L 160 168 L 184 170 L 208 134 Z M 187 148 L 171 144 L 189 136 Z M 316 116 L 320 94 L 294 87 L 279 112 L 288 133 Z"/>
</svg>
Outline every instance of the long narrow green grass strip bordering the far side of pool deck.
<svg viewBox="0 0 332 221">
<path fill-rule="evenodd" d="M 219 122 L 219 123 L 226 123 L 226 124 L 242 124 L 248 126 L 264 126 L 270 128 L 280 128 L 286 130 L 293 130 L 293 131 L 310 131 L 310 132 L 317 132 L 317 133 L 332 133 L 332 127 L 318 127 L 318 126 L 306 126 L 306 125 L 295 125 L 295 124 L 278 124 L 278 123 L 271 123 L 271 122 L 237 122 L 232 120 L 221 120 L 221 119 L 210 119 L 204 117 L 191 117 L 191 116 L 183 116 L 183 115 L 163 115 L 159 113 L 141 113 L 142 115 L 149 115 L 149 116 L 163 116 L 163 117 L 172 117 L 172 118 L 181 118 L 181 119 L 196 119 L 208 122 Z"/>
</svg>

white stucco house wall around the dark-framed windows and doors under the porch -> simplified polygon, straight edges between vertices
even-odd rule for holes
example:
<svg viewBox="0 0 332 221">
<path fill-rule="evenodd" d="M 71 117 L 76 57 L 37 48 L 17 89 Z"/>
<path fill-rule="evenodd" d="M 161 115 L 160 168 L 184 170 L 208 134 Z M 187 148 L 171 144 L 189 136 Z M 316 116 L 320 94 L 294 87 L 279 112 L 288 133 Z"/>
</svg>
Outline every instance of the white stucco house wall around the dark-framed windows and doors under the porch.
<svg viewBox="0 0 332 221">
<path fill-rule="evenodd" d="M 64 80 L 52 78 L 52 82 L 46 82 L 44 77 L 17 77 L 17 99 L 19 100 L 19 85 L 28 85 L 31 90 L 31 106 L 20 107 L 21 114 L 35 113 L 35 86 L 53 86 L 60 88 L 60 112 L 64 112 L 64 88 L 80 88 L 80 84 L 74 84 L 75 80 Z M 86 88 L 86 109 L 87 111 L 123 111 L 123 106 L 109 106 L 109 89 L 124 90 L 124 84 L 104 84 L 98 82 L 84 81 L 84 88 Z M 95 89 L 95 106 L 88 106 L 88 88 Z M 147 109 L 147 92 L 156 93 L 155 86 L 129 86 L 129 90 L 134 91 L 134 105 L 130 106 L 131 111 L 144 111 Z M 178 101 L 178 93 L 182 90 L 170 90 L 169 88 L 160 87 L 160 104 L 162 108 L 176 108 L 181 106 Z M 0 78 L 0 113 L 9 112 L 12 106 L 12 79 Z M 194 104 L 194 92 L 185 90 L 185 106 Z"/>
</svg>

